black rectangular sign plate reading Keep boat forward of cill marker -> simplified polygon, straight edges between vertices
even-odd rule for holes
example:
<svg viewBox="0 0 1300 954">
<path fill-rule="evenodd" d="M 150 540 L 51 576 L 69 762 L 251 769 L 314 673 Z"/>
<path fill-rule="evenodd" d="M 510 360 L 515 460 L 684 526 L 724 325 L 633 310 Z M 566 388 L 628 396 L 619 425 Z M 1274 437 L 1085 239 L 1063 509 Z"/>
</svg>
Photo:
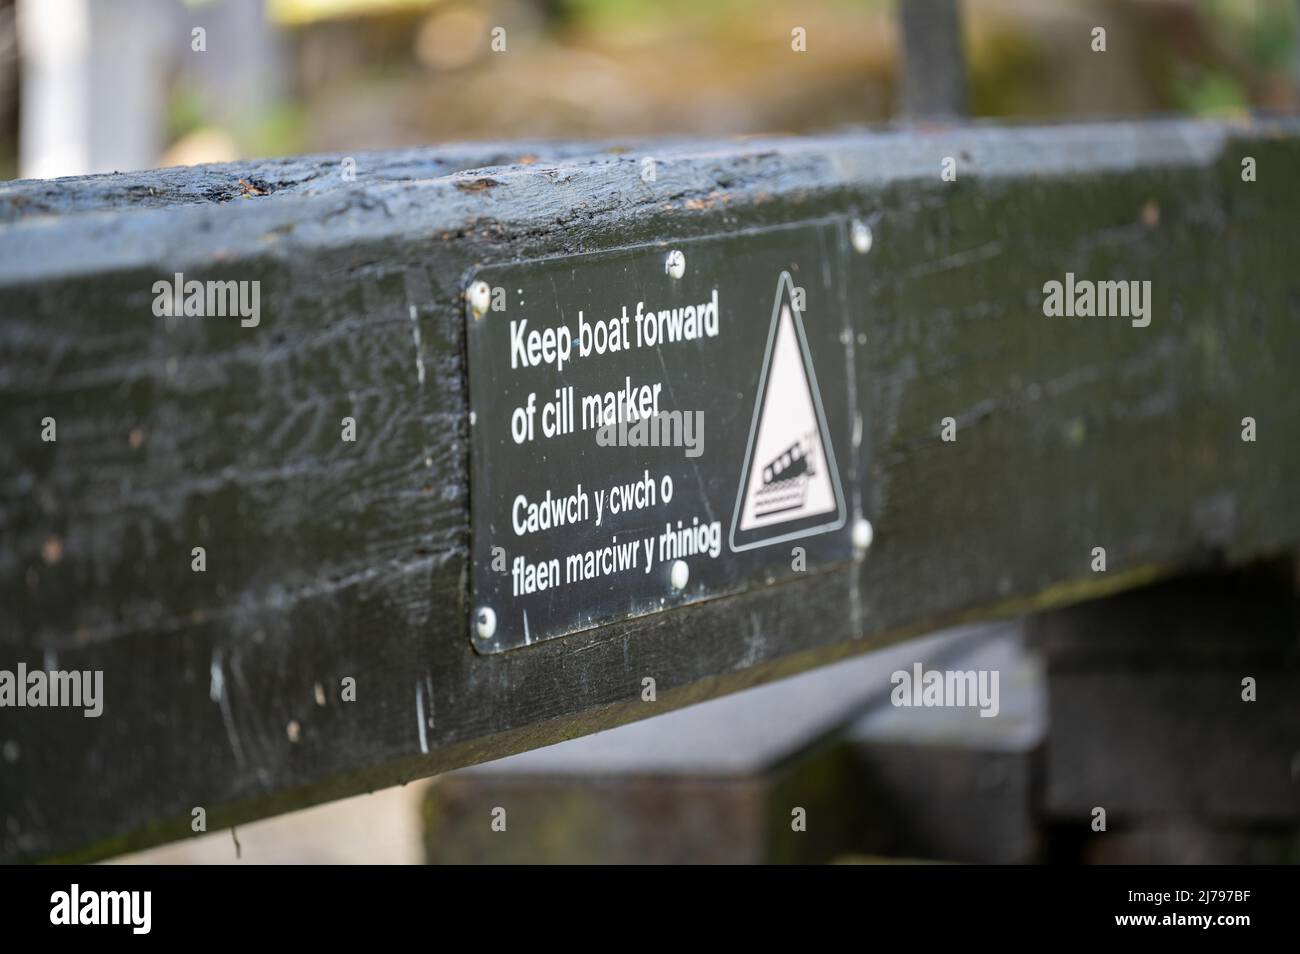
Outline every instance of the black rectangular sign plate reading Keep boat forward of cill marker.
<svg viewBox="0 0 1300 954">
<path fill-rule="evenodd" d="M 481 652 L 853 556 L 846 224 L 480 269 Z"/>
</svg>

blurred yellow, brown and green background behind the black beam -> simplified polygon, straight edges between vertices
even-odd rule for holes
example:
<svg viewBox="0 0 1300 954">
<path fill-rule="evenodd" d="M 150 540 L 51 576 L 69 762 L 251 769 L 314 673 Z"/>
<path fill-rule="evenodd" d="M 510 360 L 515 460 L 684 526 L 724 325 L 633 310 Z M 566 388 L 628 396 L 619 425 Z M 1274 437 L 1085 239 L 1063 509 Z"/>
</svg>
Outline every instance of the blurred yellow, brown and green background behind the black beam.
<svg viewBox="0 0 1300 954">
<path fill-rule="evenodd" d="M 22 113 L 38 108 L 23 95 L 35 57 L 16 9 L 78 3 L 130 18 L 131 36 L 161 51 L 161 114 L 142 151 L 114 156 L 124 168 L 885 121 L 900 100 L 894 4 L 906 0 L 0 0 L 0 177 L 32 165 Z M 1297 105 L 1296 0 L 965 0 L 962 10 L 978 117 Z M 191 49 L 195 26 L 208 31 L 203 52 Z M 802 53 L 790 48 L 796 26 Z M 1091 49 L 1095 26 L 1108 30 L 1105 55 Z M 494 27 L 504 52 L 491 49 Z M 113 86 L 105 75 L 96 87 Z M 135 101 L 126 87 L 96 95 L 108 94 Z"/>
</svg>

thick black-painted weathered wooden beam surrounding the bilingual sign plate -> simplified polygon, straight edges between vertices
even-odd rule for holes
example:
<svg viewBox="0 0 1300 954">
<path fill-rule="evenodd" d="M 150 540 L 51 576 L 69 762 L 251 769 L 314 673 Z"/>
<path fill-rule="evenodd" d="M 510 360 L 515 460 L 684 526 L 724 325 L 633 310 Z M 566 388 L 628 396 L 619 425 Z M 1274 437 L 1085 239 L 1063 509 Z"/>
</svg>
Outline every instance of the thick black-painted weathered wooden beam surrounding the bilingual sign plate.
<svg viewBox="0 0 1300 954">
<path fill-rule="evenodd" d="M 651 183 L 644 152 L 526 152 L 0 188 L 0 668 L 103 669 L 107 697 L 0 712 L 0 857 L 186 837 L 195 806 L 214 829 L 1300 542 L 1300 125 L 677 146 Z M 833 399 L 867 559 L 476 655 L 463 276 L 852 213 L 875 246 Z M 261 324 L 155 318 L 178 270 L 260 279 Z M 1152 281 L 1150 326 L 1045 318 L 1066 270 Z"/>
</svg>

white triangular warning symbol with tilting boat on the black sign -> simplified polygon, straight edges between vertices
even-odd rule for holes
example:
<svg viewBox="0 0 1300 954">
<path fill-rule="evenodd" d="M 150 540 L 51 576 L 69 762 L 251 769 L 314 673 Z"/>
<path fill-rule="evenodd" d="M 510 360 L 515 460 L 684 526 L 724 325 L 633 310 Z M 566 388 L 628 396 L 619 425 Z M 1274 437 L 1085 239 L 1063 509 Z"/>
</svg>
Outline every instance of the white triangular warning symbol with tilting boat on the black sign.
<svg viewBox="0 0 1300 954">
<path fill-rule="evenodd" d="M 732 550 L 844 526 L 844 493 L 794 282 L 776 283 L 767 354 L 732 515 Z"/>
</svg>

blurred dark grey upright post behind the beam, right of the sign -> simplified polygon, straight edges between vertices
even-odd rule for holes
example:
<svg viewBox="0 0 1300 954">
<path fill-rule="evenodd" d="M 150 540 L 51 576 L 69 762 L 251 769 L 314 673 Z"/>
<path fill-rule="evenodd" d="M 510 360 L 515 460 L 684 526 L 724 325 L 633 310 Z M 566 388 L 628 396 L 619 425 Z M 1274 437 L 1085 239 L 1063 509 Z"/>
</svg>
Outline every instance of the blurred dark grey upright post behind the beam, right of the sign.
<svg viewBox="0 0 1300 954">
<path fill-rule="evenodd" d="M 966 116 L 966 57 L 958 0 L 901 0 L 904 114 L 913 120 Z"/>
</svg>

